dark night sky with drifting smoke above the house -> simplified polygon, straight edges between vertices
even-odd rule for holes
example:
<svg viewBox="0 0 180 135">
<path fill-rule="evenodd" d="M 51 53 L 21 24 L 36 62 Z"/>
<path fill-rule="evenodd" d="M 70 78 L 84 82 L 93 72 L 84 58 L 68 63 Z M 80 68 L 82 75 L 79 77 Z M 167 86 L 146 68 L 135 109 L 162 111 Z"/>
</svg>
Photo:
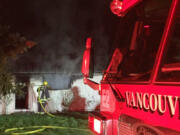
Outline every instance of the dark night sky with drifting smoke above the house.
<svg viewBox="0 0 180 135">
<path fill-rule="evenodd" d="M 20 32 L 37 46 L 16 60 L 15 71 L 80 72 L 85 39 L 93 37 L 95 70 L 107 64 L 117 17 L 110 0 L 4 0 L 2 24 Z"/>
</svg>

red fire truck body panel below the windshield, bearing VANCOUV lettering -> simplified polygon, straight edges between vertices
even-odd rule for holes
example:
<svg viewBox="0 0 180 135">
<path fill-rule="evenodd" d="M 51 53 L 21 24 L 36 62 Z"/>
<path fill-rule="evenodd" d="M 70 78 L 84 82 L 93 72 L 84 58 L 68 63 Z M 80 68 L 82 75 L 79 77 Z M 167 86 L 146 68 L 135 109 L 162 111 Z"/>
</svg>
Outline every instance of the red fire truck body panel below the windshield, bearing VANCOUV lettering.
<svg viewBox="0 0 180 135">
<path fill-rule="evenodd" d="M 112 84 L 124 101 L 118 101 L 108 84 L 102 84 L 101 113 L 118 119 L 122 114 L 180 131 L 180 89 L 177 86 Z"/>
</svg>

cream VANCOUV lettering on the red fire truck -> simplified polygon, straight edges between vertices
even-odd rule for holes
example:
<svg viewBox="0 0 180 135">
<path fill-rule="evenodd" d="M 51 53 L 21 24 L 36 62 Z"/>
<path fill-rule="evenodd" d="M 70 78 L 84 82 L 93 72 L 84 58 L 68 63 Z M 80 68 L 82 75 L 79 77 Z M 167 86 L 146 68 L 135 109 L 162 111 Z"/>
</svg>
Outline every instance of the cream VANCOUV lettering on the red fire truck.
<svg viewBox="0 0 180 135">
<path fill-rule="evenodd" d="M 126 104 L 128 107 L 140 108 L 145 111 L 158 111 L 164 114 L 167 109 L 171 116 L 174 116 L 176 111 L 179 111 L 177 106 L 180 100 L 179 96 L 171 95 L 160 95 L 160 94 L 149 94 L 149 93 L 139 93 L 139 92 L 125 92 Z"/>
</svg>

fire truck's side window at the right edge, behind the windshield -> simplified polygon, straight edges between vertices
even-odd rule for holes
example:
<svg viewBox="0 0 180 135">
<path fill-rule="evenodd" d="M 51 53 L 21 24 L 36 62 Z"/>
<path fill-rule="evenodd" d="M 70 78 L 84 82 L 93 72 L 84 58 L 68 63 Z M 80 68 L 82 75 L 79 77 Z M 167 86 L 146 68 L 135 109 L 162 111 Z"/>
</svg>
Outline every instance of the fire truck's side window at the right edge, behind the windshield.
<svg viewBox="0 0 180 135">
<path fill-rule="evenodd" d="M 160 69 L 158 81 L 180 81 L 180 24 L 175 25 L 172 37 L 164 53 L 164 61 Z"/>
</svg>

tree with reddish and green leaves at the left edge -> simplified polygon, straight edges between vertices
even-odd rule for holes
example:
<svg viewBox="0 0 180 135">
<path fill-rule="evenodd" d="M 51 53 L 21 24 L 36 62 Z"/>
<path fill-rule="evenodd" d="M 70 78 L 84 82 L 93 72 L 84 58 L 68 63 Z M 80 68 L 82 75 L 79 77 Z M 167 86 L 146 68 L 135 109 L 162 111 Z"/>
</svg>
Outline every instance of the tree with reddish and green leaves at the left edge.
<svg viewBox="0 0 180 135">
<path fill-rule="evenodd" d="M 0 25 L 0 100 L 3 114 L 6 113 L 6 106 L 11 100 L 10 94 L 22 95 L 23 87 L 22 84 L 14 81 L 9 60 L 16 59 L 17 55 L 27 52 L 34 45 L 36 45 L 35 42 L 28 41 L 19 33 L 11 32 L 9 26 Z"/>
</svg>

